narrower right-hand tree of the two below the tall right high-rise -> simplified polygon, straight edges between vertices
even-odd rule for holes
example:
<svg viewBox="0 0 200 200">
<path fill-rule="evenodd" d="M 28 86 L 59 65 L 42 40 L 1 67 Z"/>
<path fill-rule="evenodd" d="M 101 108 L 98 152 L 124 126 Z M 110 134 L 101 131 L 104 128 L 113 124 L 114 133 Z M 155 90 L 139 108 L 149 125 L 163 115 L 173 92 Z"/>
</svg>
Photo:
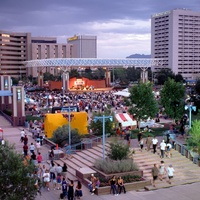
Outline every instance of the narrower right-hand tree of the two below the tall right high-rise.
<svg viewBox="0 0 200 200">
<path fill-rule="evenodd" d="M 168 117 L 177 120 L 184 113 L 185 88 L 181 83 L 168 79 L 161 90 L 161 105 Z"/>
</svg>

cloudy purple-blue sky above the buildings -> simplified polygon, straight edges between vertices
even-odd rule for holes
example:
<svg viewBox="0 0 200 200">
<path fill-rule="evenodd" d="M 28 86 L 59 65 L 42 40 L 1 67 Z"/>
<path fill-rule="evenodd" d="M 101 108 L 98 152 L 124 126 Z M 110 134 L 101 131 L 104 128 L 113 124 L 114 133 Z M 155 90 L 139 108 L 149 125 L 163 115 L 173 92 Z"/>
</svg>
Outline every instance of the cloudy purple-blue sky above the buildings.
<svg viewBox="0 0 200 200">
<path fill-rule="evenodd" d="M 151 53 L 151 16 L 200 0 L 0 0 L 0 30 L 56 37 L 97 36 L 98 58 Z"/>
</svg>

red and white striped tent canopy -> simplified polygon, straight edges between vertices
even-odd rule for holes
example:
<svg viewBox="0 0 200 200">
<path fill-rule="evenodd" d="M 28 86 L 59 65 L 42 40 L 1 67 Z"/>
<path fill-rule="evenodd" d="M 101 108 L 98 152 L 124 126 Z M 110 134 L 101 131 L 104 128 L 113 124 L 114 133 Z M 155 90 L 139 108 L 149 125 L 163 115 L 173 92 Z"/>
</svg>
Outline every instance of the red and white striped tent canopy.
<svg viewBox="0 0 200 200">
<path fill-rule="evenodd" d="M 122 127 L 137 125 L 137 121 L 135 119 L 133 119 L 133 117 L 128 113 L 115 114 L 115 118 L 117 119 L 117 121 L 119 123 L 122 124 Z"/>
</svg>

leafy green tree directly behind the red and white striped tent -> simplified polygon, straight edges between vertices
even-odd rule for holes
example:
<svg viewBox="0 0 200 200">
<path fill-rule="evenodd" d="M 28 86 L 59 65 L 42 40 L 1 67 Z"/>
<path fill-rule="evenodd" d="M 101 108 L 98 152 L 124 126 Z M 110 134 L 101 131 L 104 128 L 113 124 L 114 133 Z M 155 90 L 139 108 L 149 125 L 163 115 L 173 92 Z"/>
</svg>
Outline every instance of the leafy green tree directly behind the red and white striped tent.
<svg viewBox="0 0 200 200">
<path fill-rule="evenodd" d="M 130 97 L 126 102 L 130 114 L 138 121 L 154 118 L 158 113 L 158 104 L 152 91 L 151 83 L 140 83 L 130 89 Z"/>
</svg>

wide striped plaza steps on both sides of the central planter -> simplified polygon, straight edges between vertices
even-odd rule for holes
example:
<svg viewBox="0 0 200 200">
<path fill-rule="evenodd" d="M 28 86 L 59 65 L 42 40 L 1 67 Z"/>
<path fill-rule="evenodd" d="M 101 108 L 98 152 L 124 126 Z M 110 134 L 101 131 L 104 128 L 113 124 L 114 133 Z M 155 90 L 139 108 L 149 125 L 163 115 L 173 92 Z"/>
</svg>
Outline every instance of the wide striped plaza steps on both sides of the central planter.
<svg viewBox="0 0 200 200">
<path fill-rule="evenodd" d="M 109 149 L 109 144 L 106 144 L 105 149 L 106 151 Z M 146 186 L 146 190 L 155 190 L 158 188 L 200 182 L 200 177 L 198 176 L 200 174 L 200 167 L 174 149 L 172 150 L 172 158 L 164 159 L 161 159 L 159 156 L 160 150 L 158 150 L 156 154 L 153 154 L 151 151 L 147 152 L 146 150 L 141 152 L 139 148 L 134 148 L 134 150 L 134 162 L 138 165 L 140 170 L 143 170 L 143 177 L 146 180 L 152 180 L 151 169 L 155 163 L 159 165 L 161 160 L 164 160 L 166 168 L 169 164 L 172 164 L 175 170 L 172 184 L 166 182 L 168 178 L 165 176 L 163 181 L 156 181 L 156 187 Z M 61 166 L 63 163 L 66 163 L 68 166 L 68 177 L 72 180 L 77 180 L 76 170 L 94 166 L 95 160 L 99 158 L 102 158 L 102 145 L 97 145 L 87 150 L 77 151 L 76 154 L 73 154 L 69 158 L 55 160 L 55 163 L 59 163 Z"/>
</svg>

